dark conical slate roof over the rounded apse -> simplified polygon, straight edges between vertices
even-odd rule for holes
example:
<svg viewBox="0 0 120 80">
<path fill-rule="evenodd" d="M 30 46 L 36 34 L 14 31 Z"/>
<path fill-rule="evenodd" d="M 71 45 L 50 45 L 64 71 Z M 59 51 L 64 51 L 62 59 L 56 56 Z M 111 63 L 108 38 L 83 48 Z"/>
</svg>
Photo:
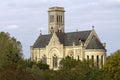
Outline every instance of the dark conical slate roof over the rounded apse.
<svg viewBox="0 0 120 80">
<path fill-rule="evenodd" d="M 105 49 L 96 36 L 93 36 L 86 49 Z"/>
</svg>

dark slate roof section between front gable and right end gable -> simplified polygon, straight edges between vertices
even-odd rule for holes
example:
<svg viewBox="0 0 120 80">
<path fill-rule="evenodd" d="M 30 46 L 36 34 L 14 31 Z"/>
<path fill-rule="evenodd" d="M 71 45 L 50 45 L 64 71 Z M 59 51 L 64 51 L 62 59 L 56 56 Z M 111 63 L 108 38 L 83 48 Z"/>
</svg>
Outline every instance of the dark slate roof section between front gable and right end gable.
<svg viewBox="0 0 120 80">
<path fill-rule="evenodd" d="M 79 32 L 70 32 L 65 34 L 58 34 L 60 42 L 64 46 L 72 46 L 73 42 L 75 45 L 79 45 L 79 41 L 82 40 L 85 42 L 90 35 L 91 30 L 89 31 L 79 31 Z"/>
</svg>

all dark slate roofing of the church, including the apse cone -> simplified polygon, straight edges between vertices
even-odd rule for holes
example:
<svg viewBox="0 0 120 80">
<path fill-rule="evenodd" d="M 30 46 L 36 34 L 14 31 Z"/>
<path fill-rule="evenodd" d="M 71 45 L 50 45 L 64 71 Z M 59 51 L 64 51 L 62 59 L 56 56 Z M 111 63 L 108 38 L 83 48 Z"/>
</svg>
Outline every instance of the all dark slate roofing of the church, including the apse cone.
<svg viewBox="0 0 120 80">
<path fill-rule="evenodd" d="M 61 44 L 64 46 L 72 46 L 73 42 L 75 45 L 79 45 L 79 41 L 85 42 L 90 35 L 91 30 L 88 31 L 79 31 L 79 32 L 70 32 L 70 33 L 61 33 L 57 34 L 58 39 Z M 33 45 L 33 48 L 45 48 L 49 44 L 49 41 L 52 37 L 52 34 L 40 35 L 36 42 Z M 104 49 L 101 42 L 96 39 L 92 40 L 88 45 L 87 49 Z"/>
</svg>

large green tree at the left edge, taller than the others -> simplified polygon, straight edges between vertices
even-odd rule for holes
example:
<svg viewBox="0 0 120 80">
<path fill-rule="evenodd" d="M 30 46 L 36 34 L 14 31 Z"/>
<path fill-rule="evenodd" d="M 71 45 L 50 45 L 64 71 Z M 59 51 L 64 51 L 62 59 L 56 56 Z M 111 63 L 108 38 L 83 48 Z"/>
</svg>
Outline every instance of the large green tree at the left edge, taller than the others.
<svg viewBox="0 0 120 80">
<path fill-rule="evenodd" d="M 11 37 L 9 33 L 0 32 L 0 79 L 32 79 L 31 75 L 25 71 L 25 65 L 21 43 Z"/>
</svg>

